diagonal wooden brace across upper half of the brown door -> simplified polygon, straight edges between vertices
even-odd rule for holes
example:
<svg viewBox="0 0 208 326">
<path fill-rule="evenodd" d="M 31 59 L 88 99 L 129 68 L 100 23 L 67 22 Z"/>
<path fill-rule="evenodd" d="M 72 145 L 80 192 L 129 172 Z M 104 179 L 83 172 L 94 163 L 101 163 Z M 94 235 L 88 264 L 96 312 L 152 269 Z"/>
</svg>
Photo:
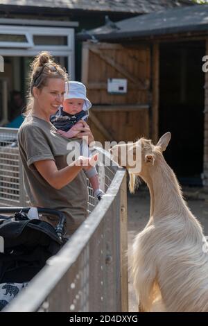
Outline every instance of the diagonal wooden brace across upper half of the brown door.
<svg viewBox="0 0 208 326">
<path fill-rule="evenodd" d="M 148 85 L 146 85 L 146 83 L 144 83 L 142 80 L 139 80 L 138 78 L 133 77 L 130 72 L 123 68 L 123 66 L 119 65 L 119 63 L 116 63 L 112 58 L 110 58 L 109 55 L 102 53 L 102 51 L 96 49 L 95 47 L 89 47 L 89 50 L 92 51 L 92 53 L 98 55 L 98 57 L 104 60 L 108 65 L 114 67 L 116 71 L 119 71 L 119 73 L 122 74 L 125 78 L 131 80 L 132 83 L 137 85 L 137 87 L 140 89 L 148 89 Z"/>
</svg>

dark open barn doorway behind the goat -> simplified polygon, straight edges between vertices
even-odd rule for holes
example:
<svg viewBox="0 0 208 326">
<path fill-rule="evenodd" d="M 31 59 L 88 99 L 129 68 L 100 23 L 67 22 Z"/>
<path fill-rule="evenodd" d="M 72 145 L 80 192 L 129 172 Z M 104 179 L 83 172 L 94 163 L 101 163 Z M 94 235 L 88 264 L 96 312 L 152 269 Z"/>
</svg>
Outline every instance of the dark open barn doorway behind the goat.
<svg viewBox="0 0 208 326">
<path fill-rule="evenodd" d="M 202 185 L 205 42 L 160 45 L 159 135 L 171 131 L 165 157 L 182 185 Z"/>
</svg>

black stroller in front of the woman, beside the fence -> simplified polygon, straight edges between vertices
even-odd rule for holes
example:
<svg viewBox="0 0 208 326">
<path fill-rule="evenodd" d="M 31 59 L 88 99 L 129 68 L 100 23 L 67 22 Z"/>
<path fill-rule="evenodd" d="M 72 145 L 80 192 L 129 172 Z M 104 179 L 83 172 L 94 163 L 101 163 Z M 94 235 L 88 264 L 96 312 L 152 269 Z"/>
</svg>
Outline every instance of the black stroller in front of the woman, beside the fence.
<svg viewBox="0 0 208 326">
<path fill-rule="evenodd" d="M 56 228 L 27 216 L 31 207 L 4 207 L 0 214 L 0 310 L 23 289 L 67 241 L 65 216 L 53 209 L 37 208 L 38 214 L 58 216 Z"/>
</svg>

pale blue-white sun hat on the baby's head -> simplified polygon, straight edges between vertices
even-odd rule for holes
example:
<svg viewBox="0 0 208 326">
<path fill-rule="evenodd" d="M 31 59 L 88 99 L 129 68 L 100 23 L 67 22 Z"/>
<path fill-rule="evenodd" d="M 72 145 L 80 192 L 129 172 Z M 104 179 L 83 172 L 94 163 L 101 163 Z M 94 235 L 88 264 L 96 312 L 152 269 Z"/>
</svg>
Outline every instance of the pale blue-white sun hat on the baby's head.
<svg viewBox="0 0 208 326">
<path fill-rule="evenodd" d="M 67 98 L 83 98 L 83 111 L 87 111 L 92 107 L 92 103 L 86 97 L 86 87 L 83 83 L 76 81 L 69 81 L 65 85 L 64 100 Z"/>
</svg>

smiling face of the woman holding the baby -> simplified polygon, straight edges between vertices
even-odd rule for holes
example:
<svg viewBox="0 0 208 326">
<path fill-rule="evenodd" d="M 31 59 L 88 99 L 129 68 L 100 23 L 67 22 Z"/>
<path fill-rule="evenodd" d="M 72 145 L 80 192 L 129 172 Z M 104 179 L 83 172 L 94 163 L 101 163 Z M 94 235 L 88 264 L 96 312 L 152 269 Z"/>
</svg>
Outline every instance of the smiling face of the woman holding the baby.
<svg viewBox="0 0 208 326">
<path fill-rule="evenodd" d="M 61 78 L 49 78 L 42 89 L 37 89 L 34 96 L 39 107 L 46 114 L 55 114 L 64 101 L 65 82 Z"/>
</svg>

